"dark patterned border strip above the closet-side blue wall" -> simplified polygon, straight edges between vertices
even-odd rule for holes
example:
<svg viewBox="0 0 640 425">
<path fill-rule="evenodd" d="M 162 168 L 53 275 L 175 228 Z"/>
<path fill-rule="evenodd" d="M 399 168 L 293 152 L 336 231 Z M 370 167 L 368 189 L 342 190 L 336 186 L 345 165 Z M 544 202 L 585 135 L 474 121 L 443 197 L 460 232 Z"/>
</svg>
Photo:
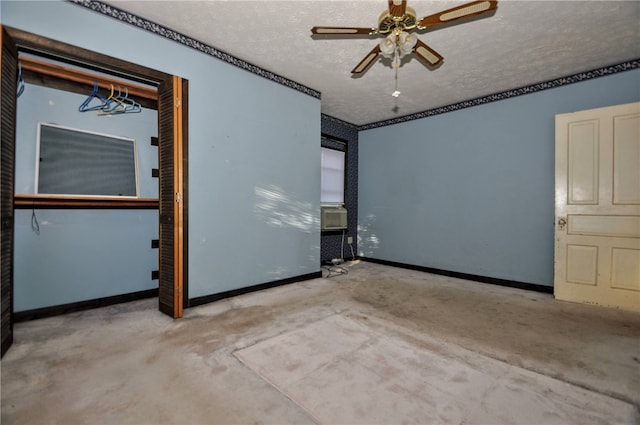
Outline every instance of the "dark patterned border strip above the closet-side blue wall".
<svg viewBox="0 0 640 425">
<path fill-rule="evenodd" d="M 98 12 L 103 15 L 110 16 L 119 21 L 141 28 L 145 31 L 152 32 L 161 37 L 168 38 L 184 46 L 190 47 L 192 49 L 205 53 L 209 56 L 213 56 L 216 59 L 220 59 L 224 62 L 227 62 L 228 64 L 237 66 L 238 68 L 244 69 L 245 71 L 249 71 L 253 74 L 256 74 L 268 80 L 274 81 L 278 84 L 282 84 L 291 89 L 297 90 L 309 96 L 320 99 L 320 92 L 317 90 L 304 86 L 300 83 L 296 83 L 295 81 L 289 80 L 288 78 L 282 77 L 278 74 L 274 74 L 273 72 L 267 71 L 266 69 L 261 68 L 257 65 L 250 64 L 249 62 L 243 61 L 242 59 L 239 59 L 229 53 L 223 52 L 222 50 L 218 50 L 215 47 L 212 47 L 201 41 L 188 37 L 170 28 L 156 24 L 155 22 L 149 21 L 148 19 L 142 18 L 140 16 L 134 15 L 129 12 L 125 12 L 122 9 L 118 9 L 117 7 L 110 6 L 100 1 L 93 1 L 93 0 L 68 0 L 68 1 L 70 1 L 71 3 L 75 3 L 79 6 L 86 7 L 87 9 L 93 10 L 94 12 Z"/>
</svg>

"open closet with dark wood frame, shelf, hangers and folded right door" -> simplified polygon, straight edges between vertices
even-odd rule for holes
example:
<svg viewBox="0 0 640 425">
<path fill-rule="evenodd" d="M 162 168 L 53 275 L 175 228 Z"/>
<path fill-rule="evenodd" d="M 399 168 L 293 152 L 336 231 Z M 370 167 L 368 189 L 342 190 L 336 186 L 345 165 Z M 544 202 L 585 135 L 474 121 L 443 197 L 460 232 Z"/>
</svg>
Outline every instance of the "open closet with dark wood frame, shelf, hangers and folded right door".
<svg viewBox="0 0 640 425">
<path fill-rule="evenodd" d="M 3 66 L 7 40 L 17 46 L 14 123 L 3 116 L 15 127 L 13 319 L 158 295 L 180 317 L 187 81 L 5 29 Z"/>
</svg>

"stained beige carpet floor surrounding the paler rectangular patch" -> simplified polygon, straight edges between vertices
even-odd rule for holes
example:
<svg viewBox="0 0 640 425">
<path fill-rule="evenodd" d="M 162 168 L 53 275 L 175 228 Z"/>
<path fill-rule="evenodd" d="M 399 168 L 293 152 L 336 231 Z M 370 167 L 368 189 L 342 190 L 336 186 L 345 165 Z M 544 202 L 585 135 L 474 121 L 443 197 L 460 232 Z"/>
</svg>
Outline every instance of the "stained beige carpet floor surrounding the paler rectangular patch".
<svg viewBox="0 0 640 425">
<path fill-rule="evenodd" d="M 187 309 L 177 321 L 151 299 L 18 323 L 0 364 L 2 423 L 317 423 L 233 352 L 347 312 L 634 404 L 638 415 L 640 315 L 371 263 L 346 267 L 347 275 Z"/>
</svg>

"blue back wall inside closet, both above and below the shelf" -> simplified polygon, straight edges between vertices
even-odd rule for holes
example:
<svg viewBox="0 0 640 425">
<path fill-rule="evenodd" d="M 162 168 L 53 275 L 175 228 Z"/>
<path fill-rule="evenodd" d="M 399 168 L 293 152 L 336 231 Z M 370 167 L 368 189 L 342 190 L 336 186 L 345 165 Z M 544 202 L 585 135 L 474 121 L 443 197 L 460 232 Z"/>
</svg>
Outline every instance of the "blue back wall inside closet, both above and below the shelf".
<svg viewBox="0 0 640 425">
<path fill-rule="evenodd" d="M 87 96 L 27 84 L 17 102 L 16 187 L 35 193 L 38 122 L 136 140 L 140 196 L 158 197 L 157 113 L 78 112 Z M 24 311 L 157 287 L 157 210 L 17 210 L 14 310 Z M 38 231 L 36 231 L 38 230 Z"/>
</svg>

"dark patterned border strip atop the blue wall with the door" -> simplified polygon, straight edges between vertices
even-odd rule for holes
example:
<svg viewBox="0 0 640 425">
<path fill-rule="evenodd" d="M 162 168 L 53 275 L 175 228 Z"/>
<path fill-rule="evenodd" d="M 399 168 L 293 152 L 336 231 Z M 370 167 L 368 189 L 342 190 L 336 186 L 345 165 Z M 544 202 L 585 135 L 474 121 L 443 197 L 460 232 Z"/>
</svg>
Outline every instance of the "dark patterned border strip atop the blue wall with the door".
<svg viewBox="0 0 640 425">
<path fill-rule="evenodd" d="M 570 75 L 568 77 L 560 77 L 560 78 L 556 78 L 555 80 L 537 83 L 530 86 L 521 87 L 519 89 L 507 90 L 507 91 L 492 94 L 489 96 L 478 97 L 476 99 L 471 99 L 471 100 L 465 100 L 463 102 L 454 103 L 451 105 L 442 106 L 439 108 L 430 109 L 423 112 L 417 112 L 411 115 L 405 115 L 402 117 L 392 118 L 389 120 L 360 125 L 358 126 L 358 131 L 369 130 L 377 127 L 384 127 L 387 125 L 400 124 L 407 121 L 413 121 L 421 118 L 431 117 L 434 115 L 445 114 L 447 112 L 458 111 L 460 109 L 470 108 L 472 106 L 484 105 L 486 103 L 496 102 L 498 100 L 505 100 L 512 97 L 516 97 L 516 96 L 523 96 L 525 94 L 536 93 L 539 91 L 554 89 L 557 87 L 562 87 L 569 84 L 578 83 L 581 81 L 591 80 L 593 78 L 617 74 L 618 72 L 630 71 L 636 68 L 640 68 L 640 59 L 634 59 L 634 60 L 623 62 L 617 65 L 611 65 L 611 66 L 595 69 L 593 71 L 581 72 L 579 74 Z"/>
</svg>

